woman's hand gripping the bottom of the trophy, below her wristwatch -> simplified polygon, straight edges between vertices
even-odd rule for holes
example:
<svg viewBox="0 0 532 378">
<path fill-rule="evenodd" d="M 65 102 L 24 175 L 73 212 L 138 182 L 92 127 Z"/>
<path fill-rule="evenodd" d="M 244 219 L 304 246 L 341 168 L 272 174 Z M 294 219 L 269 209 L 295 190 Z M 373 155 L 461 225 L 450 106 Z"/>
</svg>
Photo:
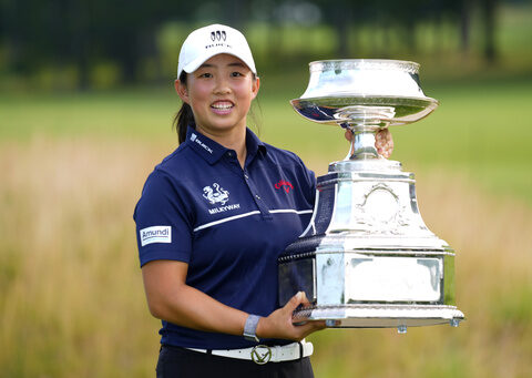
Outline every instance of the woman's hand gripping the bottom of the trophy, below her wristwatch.
<svg viewBox="0 0 532 378">
<path fill-rule="evenodd" d="M 256 335 L 259 338 L 279 338 L 299 341 L 311 333 L 324 329 L 325 321 L 313 320 L 295 326 L 291 320 L 294 310 L 299 306 L 308 306 L 305 292 L 299 292 L 288 300 L 285 307 L 273 311 L 268 317 L 258 321 Z"/>
</svg>

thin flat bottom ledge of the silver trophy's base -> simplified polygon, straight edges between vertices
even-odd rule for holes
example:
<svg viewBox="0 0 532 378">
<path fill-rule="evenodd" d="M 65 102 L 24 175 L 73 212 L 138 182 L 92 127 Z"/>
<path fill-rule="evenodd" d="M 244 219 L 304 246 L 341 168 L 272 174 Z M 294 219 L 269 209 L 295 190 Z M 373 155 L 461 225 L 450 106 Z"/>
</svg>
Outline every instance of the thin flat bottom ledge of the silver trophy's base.
<svg viewBox="0 0 532 378">
<path fill-rule="evenodd" d="M 294 323 L 326 320 L 329 328 L 398 328 L 450 324 L 457 327 L 464 319 L 454 306 L 442 305 L 340 305 L 316 306 L 296 310 Z"/>
</svg>

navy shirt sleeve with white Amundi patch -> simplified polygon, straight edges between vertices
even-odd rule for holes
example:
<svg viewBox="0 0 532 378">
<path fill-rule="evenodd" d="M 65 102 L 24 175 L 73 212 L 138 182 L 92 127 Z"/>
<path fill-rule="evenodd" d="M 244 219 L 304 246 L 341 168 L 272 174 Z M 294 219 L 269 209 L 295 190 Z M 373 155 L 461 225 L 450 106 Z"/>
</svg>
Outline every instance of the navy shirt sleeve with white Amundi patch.
<svg viewBox="0 0 532 378">
<path fill-rule="evenodd" d="M 160 171 L 147 177 L 133 214 L 141 266 L 155 259 L 190 262 L 192 221 L 185 204 L 172 177 Z"/>
</svg>

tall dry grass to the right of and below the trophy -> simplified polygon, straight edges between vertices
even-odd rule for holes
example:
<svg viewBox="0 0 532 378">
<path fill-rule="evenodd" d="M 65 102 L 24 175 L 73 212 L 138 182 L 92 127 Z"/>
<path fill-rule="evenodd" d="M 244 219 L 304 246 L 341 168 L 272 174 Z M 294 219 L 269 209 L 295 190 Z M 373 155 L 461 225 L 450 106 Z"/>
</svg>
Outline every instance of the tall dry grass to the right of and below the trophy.
<svg viewBox="0 0 532 378">
<path fill-rule="evenodd" d="M 318 377 L 532 377 L 532 210 L 443 171 L 417 174 L 417 191 L 424 222 L 457 252 L 467 320 L 407 335 L 327 330 L 313 337 Z"/>
</svg>

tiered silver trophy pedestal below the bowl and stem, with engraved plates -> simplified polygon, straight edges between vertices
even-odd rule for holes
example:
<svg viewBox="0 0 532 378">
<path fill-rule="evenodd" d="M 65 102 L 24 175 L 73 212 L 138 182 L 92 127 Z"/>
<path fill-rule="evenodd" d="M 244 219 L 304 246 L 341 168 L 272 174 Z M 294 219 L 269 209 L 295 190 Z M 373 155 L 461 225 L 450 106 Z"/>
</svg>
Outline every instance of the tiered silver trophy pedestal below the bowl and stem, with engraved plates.
<svg viewBox="0 0 532 378">
<path fill-rule="evenodd" d="M 415 183 L 383 159 L 335 162 L 318 177 L 309 225 L 278 257 L 279 306 L 298 292 L 313 304 L 295 324 L 402 333 L 463 320 L 454 251 L 424 225 Z"/>
</svg>

